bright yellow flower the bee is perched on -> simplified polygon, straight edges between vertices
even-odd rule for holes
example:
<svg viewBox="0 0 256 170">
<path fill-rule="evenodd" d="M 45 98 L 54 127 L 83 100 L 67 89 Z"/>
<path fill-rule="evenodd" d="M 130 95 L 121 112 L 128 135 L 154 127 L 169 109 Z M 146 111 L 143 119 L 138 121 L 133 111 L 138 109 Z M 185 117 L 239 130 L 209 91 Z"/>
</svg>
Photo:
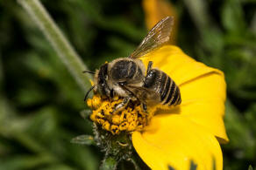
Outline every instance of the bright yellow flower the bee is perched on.
<svg viewBox="0 0 256 170">
<path fill-rule="evenodd" d="M 142 60 L 145 65 L 153 61 L 153 67 L 174 79 L 180 87 L 182 102 L 168 110 L 152 110 L 147 117 L 150 119 L 141 121 L 140 129 L 136 126 L 139 126 L 138 119 L 145 116 L 144 112 L 138 108 L 142 115 L 139 117 L 134 117 L 136 114 L 132 111 L 123 113 L 136 124 L 130 130 L 127 127 L 126 131 L 132 132 L 132 144 L 140 158 L 152 169 L 167 169 L 168 166 L 175 170 L 189 169 L 191 160 L 199 170 L 210 170 L 214 164 L 217 170 L 222 169 L 219 143 L 229 140 L 223 121 L 226 98 L 223 72 L 196 62 L 173 45 L 166 45 Z M 89 102 L 93 107 L 92 100 Z M 110 122 L 120 124 L 123 118 L 124 115 L 111 117 Z M 109 124 L 104 126 L 105 129 L 111 127 Z M 120 125 L 112 126 L 115 130 L 112 133 L 122 131 Z"/>
</svg>

